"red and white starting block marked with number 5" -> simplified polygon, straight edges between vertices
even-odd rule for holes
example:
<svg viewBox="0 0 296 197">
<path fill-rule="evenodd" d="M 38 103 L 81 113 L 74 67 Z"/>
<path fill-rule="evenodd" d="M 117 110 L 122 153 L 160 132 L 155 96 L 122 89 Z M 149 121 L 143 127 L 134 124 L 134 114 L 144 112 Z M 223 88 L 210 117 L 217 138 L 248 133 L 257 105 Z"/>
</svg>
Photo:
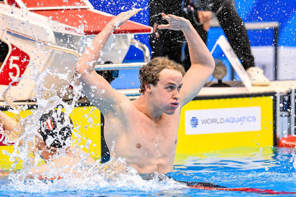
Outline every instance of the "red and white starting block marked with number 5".
<svg viewBox="0 0 296 197">
<path fill-rule="evenodd" d="M 0 3 L 0 17 L 0 39 L 9 48 L 0 68 L 0 93 L 11 83 L 9 93 L 13 98 L 31 100 L 35 95 L 34 82 L 26 77 L 12 83 L 13 79 L 23 74 L 36 75 L 48 67 L 73 78 L 74 66 L 87 43 L 91 43 L 114 16 L 95 10 L 87 0 L 4 0 Z M 113 70 L 118 65 L 128 67 L 122 61 L 131 44 L 144 52 L 147 62 L 148 48 L 133 39 L 133 34 L 147 33 L 152 33 L 152 27 L 126 22 L 114 31 L 116 36 L 108 40 L 101 65 L 96 67 L 103 70 L 108 69 L 108 65 Z M 57 76 L 46 76 L 45 81 L 47 87 L 54 84 L 57 90 L 67 85 Z M 1 96 L 0 100 L 3 100 Z"/>
</svg>

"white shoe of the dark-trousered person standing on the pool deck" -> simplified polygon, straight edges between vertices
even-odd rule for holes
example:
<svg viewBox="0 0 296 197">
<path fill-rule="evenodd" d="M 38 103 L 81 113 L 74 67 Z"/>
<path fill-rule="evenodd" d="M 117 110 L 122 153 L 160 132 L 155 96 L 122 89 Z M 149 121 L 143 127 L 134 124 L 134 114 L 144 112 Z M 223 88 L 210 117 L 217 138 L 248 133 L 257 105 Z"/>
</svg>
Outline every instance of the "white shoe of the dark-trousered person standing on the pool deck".
<svg viewBox="0 0 296 197">
<path fill-rule="evenodd" d="M 253 86 L 268 86 L 270 84 L 269 79 L 263 74 L 262 69 L 258 67 L 250 67 L 246 71 Z"/>
</svg>

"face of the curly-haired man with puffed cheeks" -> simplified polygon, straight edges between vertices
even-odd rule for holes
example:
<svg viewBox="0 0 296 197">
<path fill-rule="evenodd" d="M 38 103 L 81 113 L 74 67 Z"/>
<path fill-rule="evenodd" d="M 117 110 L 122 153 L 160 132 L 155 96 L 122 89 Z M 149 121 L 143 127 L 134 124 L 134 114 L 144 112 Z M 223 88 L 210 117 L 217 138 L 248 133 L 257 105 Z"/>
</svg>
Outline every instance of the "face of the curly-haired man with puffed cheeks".
<svg viewBox="0 0 296 197">
<path fill-rule="evenodd" d="M 182 74 L 173 69 L 163 69 L 158 76 L 156 86 L 151 87 L 154 105 L 164 113 L 172 115 L 179 107 L 180 89 L 183 84 Z"/>
</svg>

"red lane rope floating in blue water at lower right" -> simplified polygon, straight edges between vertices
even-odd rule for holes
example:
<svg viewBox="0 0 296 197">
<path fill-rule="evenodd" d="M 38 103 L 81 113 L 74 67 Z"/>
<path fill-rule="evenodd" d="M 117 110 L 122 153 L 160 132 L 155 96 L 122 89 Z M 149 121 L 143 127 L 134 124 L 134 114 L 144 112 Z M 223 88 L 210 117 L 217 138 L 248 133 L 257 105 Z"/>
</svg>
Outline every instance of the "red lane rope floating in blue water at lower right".
<svg viewBox="0 0 296 197">
<path fill-rule="evenodd" d="M 258 189 L 258 188 L 216 188 L 201 185 L 189 185 L 193 189 L 202 190 L 223 190 L 223 191 L 243 191 L 243 192 L 253 192 L 253 193 L 267 193 L 267 194 L 292 194 L 296 192 L 284 192 L 284 191 L 274 191 L 269 189 Z"/>
</svg>

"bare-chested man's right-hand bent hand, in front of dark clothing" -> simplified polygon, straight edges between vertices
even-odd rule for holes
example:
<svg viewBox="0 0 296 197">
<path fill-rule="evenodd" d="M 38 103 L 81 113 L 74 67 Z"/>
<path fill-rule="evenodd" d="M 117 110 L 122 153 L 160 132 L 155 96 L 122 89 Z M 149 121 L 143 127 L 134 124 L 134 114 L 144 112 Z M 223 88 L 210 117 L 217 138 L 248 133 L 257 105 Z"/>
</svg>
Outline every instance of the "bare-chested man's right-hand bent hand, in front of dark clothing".
<svg viewBox="0 0 296 197">
<path fill-rule="evenodd" d="M 177 17 L 173 14 L 164 14 L 161 13 L 163 19 L 167 20 L 169 24 L 167 25 L 158 25 L 158 29 L 169 29 L 169 30 L 186 30 L 190 27 L 189 20 L 183 17 Z"/>
</svg>

